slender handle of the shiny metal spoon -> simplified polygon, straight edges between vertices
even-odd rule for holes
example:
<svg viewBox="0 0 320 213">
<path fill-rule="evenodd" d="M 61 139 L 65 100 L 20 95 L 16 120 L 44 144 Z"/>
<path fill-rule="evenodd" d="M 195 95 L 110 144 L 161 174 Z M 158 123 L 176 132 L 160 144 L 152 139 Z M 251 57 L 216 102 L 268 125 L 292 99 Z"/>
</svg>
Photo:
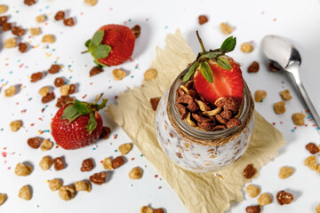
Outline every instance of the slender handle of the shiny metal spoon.
<svg viewBox="0 0 320 213">
<path fill-rule="evenodd" d="M 305 105 L 308 107 L 308 110 L 313 117 L 314 121 L 316 122 L 316 126 L 318 127 L 318 131 L 320 133 L 320 116 L 316 111 L 316 107 L 312 104 L 311 99 L 308 97 L 307 91 L 303 87 L 299 75 L 299 65 L 292 64 L 291 66 L 287 67 L 286 70 L 289 70 L 290 73 L 293 75 L 293 79 L 297 84 L 298 91 L 300 92 L 301 98 L 304 100 Z"/>
</svg>

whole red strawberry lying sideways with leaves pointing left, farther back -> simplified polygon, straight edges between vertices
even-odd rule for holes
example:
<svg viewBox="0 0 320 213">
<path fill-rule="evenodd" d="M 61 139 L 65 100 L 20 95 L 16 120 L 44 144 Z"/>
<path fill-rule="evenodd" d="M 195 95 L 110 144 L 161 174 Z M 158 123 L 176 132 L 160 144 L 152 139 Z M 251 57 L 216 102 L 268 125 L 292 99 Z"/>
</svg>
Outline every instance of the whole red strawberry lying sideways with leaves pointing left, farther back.
<svg viewBox="0 0 320 213">
<path fill-rule="evenodd" d="M 116 66 L 130 59 L 135 38 L 132 29 L 126 26 L 105 25 L 86 41 L 88 50 L 84 52 L 91 52 L 99 67 Z"/>
</svg>

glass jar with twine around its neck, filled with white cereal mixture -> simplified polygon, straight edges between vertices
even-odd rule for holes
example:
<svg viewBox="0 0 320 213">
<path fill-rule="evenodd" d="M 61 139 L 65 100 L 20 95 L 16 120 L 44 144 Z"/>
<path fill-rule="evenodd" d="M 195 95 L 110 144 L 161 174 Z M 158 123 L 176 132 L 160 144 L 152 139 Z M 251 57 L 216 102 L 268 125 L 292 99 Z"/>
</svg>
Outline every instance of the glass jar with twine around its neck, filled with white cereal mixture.
<svg viewBox="0 0 320 213">
<path fill-rule="evenodd" d="M 236 162 L 244 154 L 252 138 L 254 102 L 244 82 L 244 98 L 240 106 L 242 124 L 226 130 L 204 131 L 188 125 L 175 106 L 182 72 L 164 93 L 156 109 L 156 138 L 164 153 L 185 170 L 211 172 Z"/>
</svg>

